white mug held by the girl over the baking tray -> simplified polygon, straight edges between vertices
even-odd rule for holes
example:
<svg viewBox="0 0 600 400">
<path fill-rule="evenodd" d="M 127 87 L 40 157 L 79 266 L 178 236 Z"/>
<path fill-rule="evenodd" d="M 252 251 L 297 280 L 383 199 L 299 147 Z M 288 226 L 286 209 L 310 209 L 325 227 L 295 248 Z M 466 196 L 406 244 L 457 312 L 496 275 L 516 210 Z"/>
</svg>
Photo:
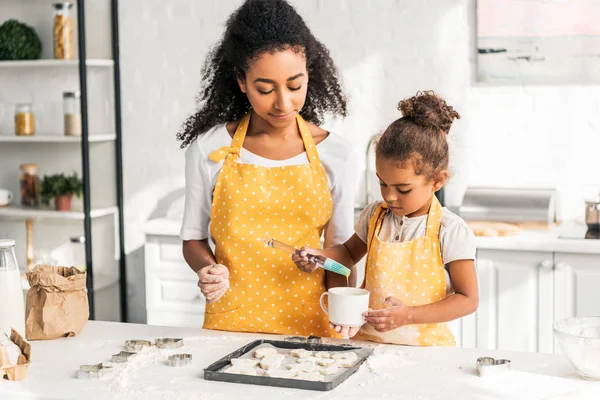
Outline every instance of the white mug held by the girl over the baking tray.
<svg viewBox="0 0 600 400">
<path fill-rule="evenodd" d="M 329 308 L 323 300 L 329 297 Z M 321 295 L 321 308 L 334 325 L 358 327 L 365 323 L 363 313 L 369 310 L 369 291 L 358 288 L 337 287 Z"/>
</svg>

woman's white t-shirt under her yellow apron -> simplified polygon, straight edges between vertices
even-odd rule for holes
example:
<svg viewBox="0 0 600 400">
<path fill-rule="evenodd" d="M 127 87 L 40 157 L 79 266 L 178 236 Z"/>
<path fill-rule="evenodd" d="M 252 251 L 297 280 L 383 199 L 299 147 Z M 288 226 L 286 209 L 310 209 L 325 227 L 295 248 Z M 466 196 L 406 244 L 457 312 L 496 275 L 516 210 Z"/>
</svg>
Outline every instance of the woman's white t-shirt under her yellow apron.
<svg viewBox="0 0 600 400">
<path fill-rule="evenodd" d="M 213 151 L 231 145 L 225 124 L 214 126 L 190 143 L 185 153 L 185 209 L 180 237 L 182 240 L 202 240 L 209 237 L 211 205 L 215 183 L 223 162 L 208 158 Z M 333 213 L 325 226 L 324 245 L 344 243 L 354 233 L 354 194 L 357 184 L 356 156 L 348 141 L 329 133 L 317 145 L 321 163 L 333 201 Z M 239 162 L 263 167 L 308 164 L 306 152 L 286 160 L 270 160 L 242 148 Z"/>
</svg>

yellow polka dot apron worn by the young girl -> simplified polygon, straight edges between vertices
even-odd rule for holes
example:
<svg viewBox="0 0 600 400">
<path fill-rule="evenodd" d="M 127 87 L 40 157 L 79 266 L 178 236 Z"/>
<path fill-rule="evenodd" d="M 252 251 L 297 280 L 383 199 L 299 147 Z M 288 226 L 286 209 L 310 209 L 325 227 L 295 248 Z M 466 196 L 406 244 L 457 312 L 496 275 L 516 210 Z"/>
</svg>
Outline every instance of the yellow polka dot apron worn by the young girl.
<svg viewBox="0 0 600 400">
<path fill-rule="evenodd" d="M 435 303 L 446 297 L 446 276 L 440 253 L 439 231 L 442 207 L 434 196 L 427 216 L 424 237 L 401 243 L 379 239 L 383 220 L 389 211 L 379 206 L 369 220 L 365 288 L 371 292 L 369 307 L 386 308 L 383 300 L 393 296 L 408 306 Z M 359 340 L 413 346 L 454 346 L 446 324 L 406 325 L 388 332 L 377 332 L 364 325 Z"/>
</svg>

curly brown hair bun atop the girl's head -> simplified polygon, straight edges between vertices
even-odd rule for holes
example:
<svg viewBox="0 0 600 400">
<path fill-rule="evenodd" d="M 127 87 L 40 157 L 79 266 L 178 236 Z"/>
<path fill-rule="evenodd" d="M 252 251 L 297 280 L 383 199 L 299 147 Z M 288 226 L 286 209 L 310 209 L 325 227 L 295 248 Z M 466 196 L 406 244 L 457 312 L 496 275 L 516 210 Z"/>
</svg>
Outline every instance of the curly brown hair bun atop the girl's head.
<svg viewBox="0 0 600 400">
<path fill-rule="evenodd" d="M 436 128 L 448 134 L 454 119 L 460 115 L 433 91 L 417 92 L 413 97 L 398 103 L 398 110 L 405 118 L 423 127 Z"/>
</svg>

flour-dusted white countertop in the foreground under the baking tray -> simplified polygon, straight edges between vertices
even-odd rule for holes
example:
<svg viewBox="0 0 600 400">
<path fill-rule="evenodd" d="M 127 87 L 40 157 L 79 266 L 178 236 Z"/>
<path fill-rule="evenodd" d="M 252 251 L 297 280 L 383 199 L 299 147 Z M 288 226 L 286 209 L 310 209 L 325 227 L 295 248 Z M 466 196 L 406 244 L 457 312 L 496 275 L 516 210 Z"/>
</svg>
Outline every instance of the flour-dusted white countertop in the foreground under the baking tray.
<svg viewBox="0 0 600 400">
<path fill-rule="evenodd" d="M 127 339 L 182 337 L 184 348 L 149 349 L 102 380 L 76 379 L 80 364 L 110 360 Z M 73 338 L 32 343 L 29 376 L 0 382 L 1 399 L 597 399 L 600 382 L 585 381 L 559 355 L 462 348 L 415 348 L 374 345 L 360 370 L 331 392 L 313 392 L 205 381 L 203 368 L 256 338 L 272 335 L 224 333 L 192 328 L 89 322 Z M 355 342 L 356 344 L 358 342 Z M 189 367 L 165 364 L 166 354 L 190 352 Z M 475 360 L 508 358 L 512 371 L 481 378 Z"/>
</svg>

